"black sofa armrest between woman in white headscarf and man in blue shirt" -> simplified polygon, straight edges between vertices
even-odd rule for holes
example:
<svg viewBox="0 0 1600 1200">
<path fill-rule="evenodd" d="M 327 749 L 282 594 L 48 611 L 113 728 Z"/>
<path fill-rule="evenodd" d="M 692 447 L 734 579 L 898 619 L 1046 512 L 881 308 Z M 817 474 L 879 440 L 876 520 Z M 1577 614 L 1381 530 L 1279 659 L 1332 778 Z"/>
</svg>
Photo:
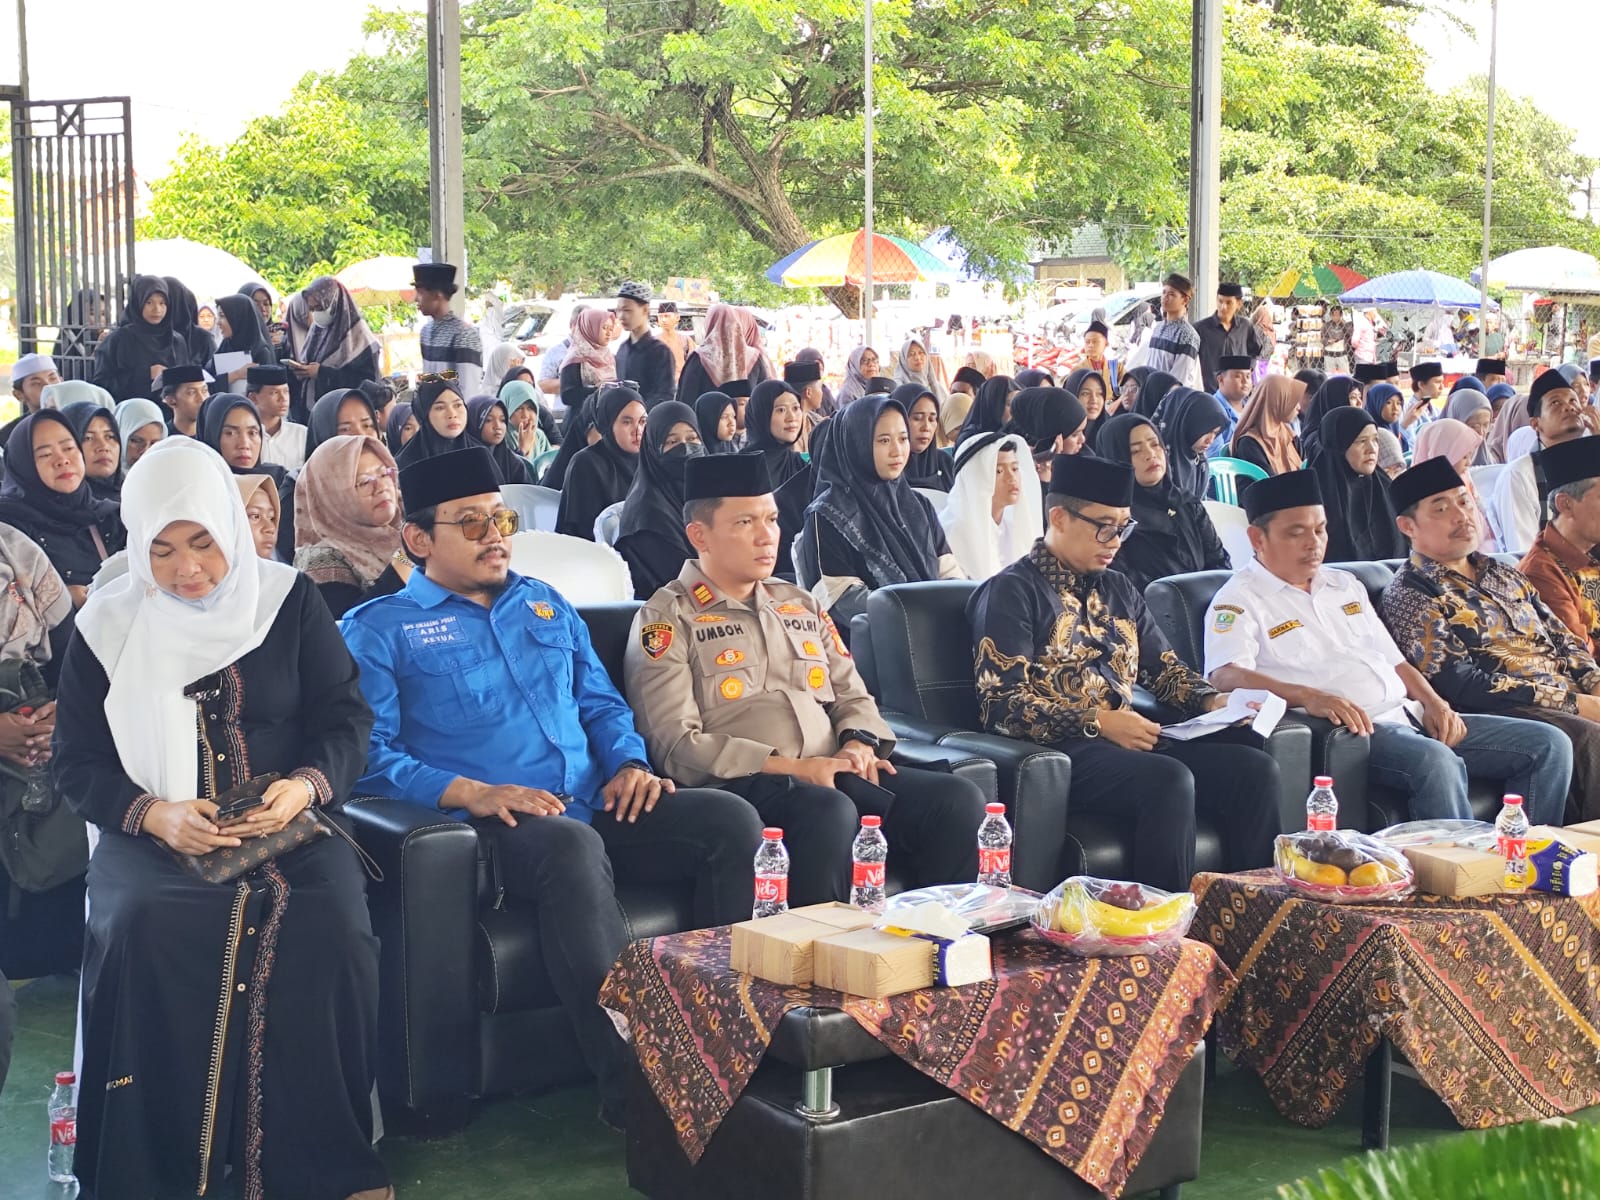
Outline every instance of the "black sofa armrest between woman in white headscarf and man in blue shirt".
<svg viewBox="0 0 1600 1200">
<path fill-rule="evenodd" d="M 384 872 L 366 901 L 381 944 L 378 1090 L 386 1112 L 434 1130 L 466 1123 L 477 1091 L 478 834 L 382 797 L 344 806 Z"/>
</svg>

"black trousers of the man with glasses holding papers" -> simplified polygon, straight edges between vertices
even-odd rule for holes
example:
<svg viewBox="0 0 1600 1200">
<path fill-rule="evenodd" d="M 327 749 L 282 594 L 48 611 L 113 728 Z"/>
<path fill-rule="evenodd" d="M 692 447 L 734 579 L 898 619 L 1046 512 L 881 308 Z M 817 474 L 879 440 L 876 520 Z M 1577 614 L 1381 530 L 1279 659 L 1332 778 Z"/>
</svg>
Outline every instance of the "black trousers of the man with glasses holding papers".
<svg viewBox="0 0 1600 1200">
<path fill-rule="evenodd" d="M 1154 750 L 1125 750 L 1106 738 L 1061 744 L 1072 758 L 1075 811 L 1133 814 L 1133 878 L 1186 891 L 1195 874 L 1195 813 L 1222 834 L 1227 870 L 1272 864 L 1278 819 L 1278 765 L 1266 750 L 1229 741 L 1222 731 L 1192 742 L 1160 741 Z M 1253 734 L 1245 734 L 1253 738 Z"/>
</svg>

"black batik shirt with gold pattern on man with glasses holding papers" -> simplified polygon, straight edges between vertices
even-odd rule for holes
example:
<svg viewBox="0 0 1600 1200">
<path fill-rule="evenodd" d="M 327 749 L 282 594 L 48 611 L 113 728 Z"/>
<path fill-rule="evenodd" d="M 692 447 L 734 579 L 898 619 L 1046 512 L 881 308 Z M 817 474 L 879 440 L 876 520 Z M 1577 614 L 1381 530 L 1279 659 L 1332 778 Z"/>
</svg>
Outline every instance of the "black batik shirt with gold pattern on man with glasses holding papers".
<svg viewBox="0 0 1600 1200">
<path fill-rule="evenodd" d="M 986 730 L 1054 744 L 1082 736 L 1096 709 L 1133 707 L 1139 685 L 1184 717 L 1216 690 L 1184 666 L 1117 571 L 1078 574 L 1043 539 L 966 605 Z"/>
</svg>

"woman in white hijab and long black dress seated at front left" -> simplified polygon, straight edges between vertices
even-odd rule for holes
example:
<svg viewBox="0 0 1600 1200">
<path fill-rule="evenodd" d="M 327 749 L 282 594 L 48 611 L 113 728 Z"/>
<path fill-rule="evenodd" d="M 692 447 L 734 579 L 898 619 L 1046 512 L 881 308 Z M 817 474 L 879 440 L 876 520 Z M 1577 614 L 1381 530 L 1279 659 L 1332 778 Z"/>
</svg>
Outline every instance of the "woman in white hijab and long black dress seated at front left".
<svg viewBox="0 0 1600 1200">
<path fill-rule="evenodd" d="M 78 1179 L 131 1200 L 211 1190 L 232 1166 L 246 1197 L 389 1197 L 378 944 L 350 846 L 314 827 L 226 883 L 181 858 L 251 858 L 307 808 L 330 821 L 373 725 L 355 664 L 315 584 L 256 555 L 211 448 L 157 443 L 123 512 L 128 571 L 78 614 L 54 731 L 56 790 L 99 829 Z M 218 797 L 269 774 L 259 806 L 221 819 Z"/>
</svg>

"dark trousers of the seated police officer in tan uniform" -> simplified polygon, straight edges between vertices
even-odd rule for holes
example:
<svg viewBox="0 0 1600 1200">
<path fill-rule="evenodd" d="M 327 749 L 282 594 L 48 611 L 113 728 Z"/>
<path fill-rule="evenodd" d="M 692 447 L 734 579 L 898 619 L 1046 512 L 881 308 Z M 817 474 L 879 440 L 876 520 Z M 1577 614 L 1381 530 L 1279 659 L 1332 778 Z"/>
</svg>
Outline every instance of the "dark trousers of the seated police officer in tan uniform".
<svg viewBox="0 0 1600 1200">
<path fill-rule="evenodd" d="M 742 795 L 762 821 L 784 830 L 789 848 L 789 904 L 850 899 L 850 843 L 861 818 L 883 818 L 890 869 L 912 886 L 966 883 L 978 877 L 982 790 L 944 771 L 901 766 L 878 774 L 883 805 L 858 805 L 837 787 L 805 784 L 789 774 L 752 774 L 723 784 Z M 752 885 L 754 886 L 754 885 Z"/>
</svg>

